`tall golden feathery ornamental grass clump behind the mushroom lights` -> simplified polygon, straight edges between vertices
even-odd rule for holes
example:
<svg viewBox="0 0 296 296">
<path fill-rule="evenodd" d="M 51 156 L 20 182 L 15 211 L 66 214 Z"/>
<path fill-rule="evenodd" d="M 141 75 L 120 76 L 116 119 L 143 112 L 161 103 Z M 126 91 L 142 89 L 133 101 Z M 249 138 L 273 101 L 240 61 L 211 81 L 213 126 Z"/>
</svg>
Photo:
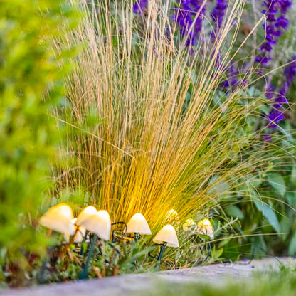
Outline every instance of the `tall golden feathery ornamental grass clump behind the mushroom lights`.
<svg viewBox="0 0 296 296">
<path fill-rule="evenodd" d="M 194 48 L 194 23 L 176 41 L 170 1 L 148 1 L 137 14 L 134 1 L 96 3 L 81 4 L 83 23 L 66 40 L 85 46 L 65 80 L 65 104 L 53 114 L 67 131 L 63 165 L 53 167 L 54 193 L 78 190 L 112 222 L 142 213 L 153 233 L 171 208 L 184 223 L 241 182 L 251 184 L 252 172 L 271 160 L 260 130 L 248 127 L 263 117 L 266 100 L 248 91 L 251 67 L 245 83 L 219 92 L 243 1 L 223 10 L 216 41 L 201 30 Z"/>
</svg>

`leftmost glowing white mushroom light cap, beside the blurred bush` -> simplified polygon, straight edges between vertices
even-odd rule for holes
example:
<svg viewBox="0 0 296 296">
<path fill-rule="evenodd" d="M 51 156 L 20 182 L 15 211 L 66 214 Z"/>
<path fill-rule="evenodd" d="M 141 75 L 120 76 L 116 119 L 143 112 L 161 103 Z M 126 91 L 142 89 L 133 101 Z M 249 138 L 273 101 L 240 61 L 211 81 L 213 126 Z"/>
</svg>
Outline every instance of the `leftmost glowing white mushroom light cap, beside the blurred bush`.
<svg viewBox="0 0 296 296">
<path fill-rule="evenodd" d="M 49 208 L 39 223 L 53 231 L 73 235 L 75 233 L 75 226 L 71 223 L 73 218 L 72 208 L 67 203 L 59 203 Z"/>
</svg>

